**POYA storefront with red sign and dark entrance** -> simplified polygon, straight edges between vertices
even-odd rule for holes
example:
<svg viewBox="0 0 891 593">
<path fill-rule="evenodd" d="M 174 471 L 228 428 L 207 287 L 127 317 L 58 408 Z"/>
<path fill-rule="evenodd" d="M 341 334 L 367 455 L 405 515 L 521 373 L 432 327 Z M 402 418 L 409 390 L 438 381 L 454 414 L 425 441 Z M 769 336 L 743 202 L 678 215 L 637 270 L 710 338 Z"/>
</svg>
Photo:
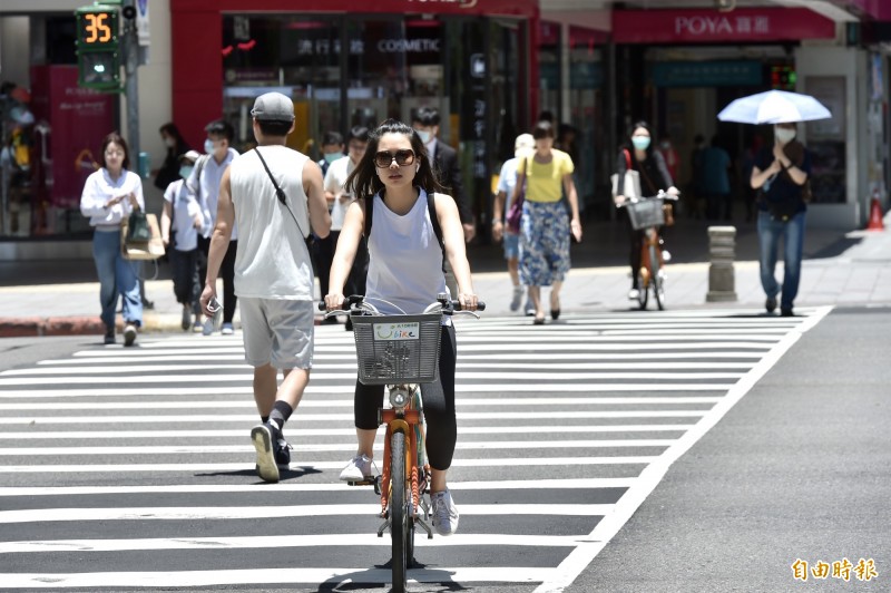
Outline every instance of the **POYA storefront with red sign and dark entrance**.
<svg viewBox="0 0 891 593">
<path fill-rule="evenodd" d="M 613 38 L 619 60 L 629 65 L 617 80 L 627 100 L 619 100 L 616 133 L 623 138 L 643 118 L 658 136 L 669 135 L 681 155 L 675 183 L 682 188 L 694 183 L 694 137 L 716 138 L 737 163 L 732 182 L 742 196 L 742 162 L 758 139 L 771 140 L 770 126 L 723 124 L 717 113 L 735 98 L 772 88 L 817 94 L 816 81 L 802 75 L 810 61 L 802 41 L 830 45 L 836 35 L 835 22 L 804 8 L 614 11 Z M 846 111 L 833 113 L 838 132 Z M 802 126 L 801 137 L 815 155 L 815 201 L 844 203 L 845 138 L 821 136 L 811 125 Z M 841 158 L 830 154 L 839 150 Z"/>
</svg>

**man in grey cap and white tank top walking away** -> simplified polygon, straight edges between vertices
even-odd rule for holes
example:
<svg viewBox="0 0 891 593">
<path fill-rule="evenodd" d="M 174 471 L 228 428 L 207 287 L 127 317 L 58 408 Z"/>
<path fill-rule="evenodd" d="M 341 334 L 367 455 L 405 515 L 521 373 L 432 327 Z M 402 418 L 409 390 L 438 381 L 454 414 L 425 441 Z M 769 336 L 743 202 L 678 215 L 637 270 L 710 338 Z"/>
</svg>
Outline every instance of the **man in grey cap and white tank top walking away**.
<svg viewBox="0 0 891 593">
<path fill-rule="evenodd" d="M 254 400 L 262 424 L 251 431 L 256 470 L 278 482 L 291 463 L 282 430 L 310 381 L 313 354 L 313 271 L 306 237 L 331 229 L 322 171 L 285 146 L 294 104 L 280 93 L 254 101 L 257 147 L 235 158 L 219 184 L 202 307 L 212 314 L 216 279 L 237 223 L 235 294 L 242 303 L 245 359 L 254 367 Z M 277 369 L 284 379 L 278 385 Z"/>
</svg>

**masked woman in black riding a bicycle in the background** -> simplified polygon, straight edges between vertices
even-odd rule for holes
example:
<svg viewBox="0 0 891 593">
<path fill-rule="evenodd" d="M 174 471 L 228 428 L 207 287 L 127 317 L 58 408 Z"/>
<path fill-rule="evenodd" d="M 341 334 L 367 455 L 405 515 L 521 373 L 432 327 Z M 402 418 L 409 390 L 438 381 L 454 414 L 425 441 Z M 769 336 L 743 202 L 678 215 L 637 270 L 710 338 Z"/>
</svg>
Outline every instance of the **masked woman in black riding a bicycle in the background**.
<svg viewBox="0 0 891 593">
<path fill-rule="evenodd" d="M 631 135 L 628 143 L 619 152 L 616 164 L 616 172 L 619 174 L 618 187 L 625 187 L 625 172 L 628 168 L 640 174 L 640 191 L 646 196 L 655 196 L 659 189 L 676 196 L 679 192 L 674 186 L 672 175 L 665 165 L 662 153 L 656 150 L 653 145 L 649 124 L 638 121 L 631 127 Z M 616 204 L 625 203 L 624 195 L 616 196 Z M 630 250 L 628 252 L 628 263 L 631 265 L 631 290 L 628 291 L 628 299 L 636 301 L 640 294 L 638 276 L 640 272 L 640 249 L 644 244 L 644 230 L 635 231 L 628 213 L 623 214 L 628 226 L 628 237 Z M 665 255 L 665 252 L 663 252 Z"/>
</svg>

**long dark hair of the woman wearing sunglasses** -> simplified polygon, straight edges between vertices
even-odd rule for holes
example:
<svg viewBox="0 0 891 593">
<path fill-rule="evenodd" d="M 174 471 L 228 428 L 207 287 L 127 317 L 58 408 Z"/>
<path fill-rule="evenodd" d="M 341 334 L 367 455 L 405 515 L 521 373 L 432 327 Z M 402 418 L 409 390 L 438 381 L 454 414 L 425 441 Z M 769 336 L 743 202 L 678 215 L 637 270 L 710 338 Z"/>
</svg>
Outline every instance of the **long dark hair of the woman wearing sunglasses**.
<svg viewBox="0 0 891 593">
<path fill-rule="evenodd" d="M 414 175 L 413 184 L 415 187 L 423 187 L 428 193 L 442 192 L 443 187 L 433 174 L 430 166 L 430 158 L 427 155 L 427 147 L 423 140 L 411 126 L 398 119 L 386 119 L 373 132 L 369 133 L 369 146 L 362 159 L 356 164 L 355 169 L 346 177 L 345 188 L 356 197 L 372 197 L 384 188 L 384 184 L 378 176 L 374 165 L 374 155 L 378 154 L 378 145 L 384 134 L 402 134 L 411 140 L 411 149 L 414 150 L 415 163 L 421 168 Z"/>
</svg>

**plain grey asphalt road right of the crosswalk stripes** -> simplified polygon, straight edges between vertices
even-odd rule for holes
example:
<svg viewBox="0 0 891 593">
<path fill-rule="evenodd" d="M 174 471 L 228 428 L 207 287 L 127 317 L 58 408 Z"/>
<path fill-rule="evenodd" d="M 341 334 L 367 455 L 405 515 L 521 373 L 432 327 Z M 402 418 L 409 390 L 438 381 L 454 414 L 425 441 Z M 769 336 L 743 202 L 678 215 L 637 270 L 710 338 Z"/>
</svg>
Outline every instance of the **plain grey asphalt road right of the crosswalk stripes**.
<svg viewBox="0 0 891 593">
<path fill-rule="evenodd" d="M 836 309 L 674 464 L 570 593 L 891 591 L 891 310 Z M 873 558 L 879 577 L 796 560 Z"/>
</svg>

